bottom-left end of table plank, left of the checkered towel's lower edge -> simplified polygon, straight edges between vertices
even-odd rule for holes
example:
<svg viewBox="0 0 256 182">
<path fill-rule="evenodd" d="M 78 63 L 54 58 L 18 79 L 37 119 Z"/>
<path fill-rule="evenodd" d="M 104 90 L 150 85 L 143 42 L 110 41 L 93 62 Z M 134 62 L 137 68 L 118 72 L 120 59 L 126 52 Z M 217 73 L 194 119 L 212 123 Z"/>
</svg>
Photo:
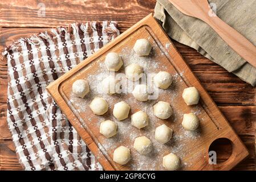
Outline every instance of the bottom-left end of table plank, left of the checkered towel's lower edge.
<svg viewBox="0 0 256 182">
<path fill-rule="evenodd" d="M 0 140 L 0 170 L 22 170 L 13 141 Z"/>
</svg>

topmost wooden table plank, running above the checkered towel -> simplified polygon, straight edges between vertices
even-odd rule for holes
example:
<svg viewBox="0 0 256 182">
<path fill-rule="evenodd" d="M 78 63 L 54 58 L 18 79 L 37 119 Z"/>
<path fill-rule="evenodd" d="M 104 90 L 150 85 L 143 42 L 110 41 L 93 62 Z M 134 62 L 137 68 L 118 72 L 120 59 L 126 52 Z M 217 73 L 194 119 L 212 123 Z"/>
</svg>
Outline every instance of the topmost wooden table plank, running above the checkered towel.
<svg viewBox="0 0 256 182">
<path fill-rule="evenodd" d="M 44 1 L 45 16 L 40 16 L 38 1 L 0 2 L 1 27 L 56 27 L 88 20 L 117 20 L 121 27 L 153 13 L 156 0 L 135 1 Z M 38 14 L 39 12 L 39 14 Z"/>
</svg>

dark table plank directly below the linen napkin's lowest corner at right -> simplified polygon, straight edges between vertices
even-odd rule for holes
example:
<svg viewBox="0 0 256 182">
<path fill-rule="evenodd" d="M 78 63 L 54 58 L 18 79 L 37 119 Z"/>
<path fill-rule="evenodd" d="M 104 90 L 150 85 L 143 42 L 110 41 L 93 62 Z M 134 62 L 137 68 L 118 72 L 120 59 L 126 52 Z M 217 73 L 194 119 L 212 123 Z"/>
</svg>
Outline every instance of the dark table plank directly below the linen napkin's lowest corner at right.
<svg viewBox="0 0 256 182">
<path fill-rule="evenodd" d="M 217 104 L 255 104 L 256 89 L 220 66 L 190 65 L 190 68 Z"/>
</svg>

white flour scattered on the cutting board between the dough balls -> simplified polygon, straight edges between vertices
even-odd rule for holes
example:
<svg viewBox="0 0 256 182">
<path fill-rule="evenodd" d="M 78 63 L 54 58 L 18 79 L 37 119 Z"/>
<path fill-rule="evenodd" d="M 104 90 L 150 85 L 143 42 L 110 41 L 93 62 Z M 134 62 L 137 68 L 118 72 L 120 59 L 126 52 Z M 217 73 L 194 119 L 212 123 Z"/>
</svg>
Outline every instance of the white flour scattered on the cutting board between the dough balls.
<svg viewBox="0 0 256 182">
<path fill-rule="evenodd" d="M 165 45 L 165 48 L 169 48 L 169 44 Z M 135 85 L 132 85 L 133 82 L 127 80 L 127 89 L 129 90 L 128 94 L 113 94 L 109 96 L 108 94 L 99 93 L 100 82 L 109 75 L 109 72 L 105 68 L 103 59 L 97 61 L 99 64 L 99 69 L 97 69 L 93 74 L 84 77 L 90 85 L 90 93 L 86 95 L 85 98 L 75 97 L 72 92 L 68 96 L 68 104 L 71 106 L 72 110 L 78 116 L 80 126 L 84 127 L 92 136 L 92 138 L 97 143 L 99 149 L 107 158 L 112 158 L 113 150 L 119 147 L 120 145 L 126 146 L 131 149 L 132 160 L 127 164 L 127 169 L 131 170 L 162 170 L 162 156 L 173 152 L 181 158 L 182 169 L 186 167 L 193 166 L 193 158 L 197 158 L 196 155 L 192 155 L 189 159 L 185 156 L 189 154 L 190 148 L 189 144 L 200 143 L 200 130 L 197 131 L 185 131 L 181 126 L 182 116 L 184 113 L 192 112 L 200 118 L 200 115 L 205 111 L 200 105 L 188 107 L 185 105 L 182 100 L 181 94 L 182 90 L 186 87 L 184 81 L 181 78 L 183 73 L 180 75 L 176 70 L 171 66 L 169 68 L 169 62 L 165 57 L 164 53 L 157 53 L 160 49 L 157 47 L 156 43 L 152 45 L 152 51 L 149 56 L 137 56 L 131 47 L 123 48 L 120 52 L 120 56 L 123 60 L 123 67 L 121 67 L 119 73 L 124 73 L 124 67 L 131 63 L 137 63 L 143 67 L 144 73 L 158 73 L 159 71 L 167 71 L 171 73 L 173 77 L 172 85 L 166 89 L 159 89 L 159 97 L 157 100 L 149 100 L 147 102 L 140 102 L 133 98 L 131 91 Z M 165 59 L 161 63 L 157 61 L 158 59 Z M 139 84 L 137 82 L 136 84 Z M 109 105 L 109 110 L 103 116 L 97 116 L 91 114 L 89 104 L 94 97 L 103 97 Z M 125 119 L 124 121 L 117 121 L 112 115 L 113 105 L 116 102 L 124 100 L 131 106 L 130 115 L 135 113 L 138 110 L 143 110 L 148 114 L 149 117 L 149 126 L 144 127 L 143 129 L 137 129 L 131 125 L 131 117 Z M 174 111 L 172 117 L 161 120 L 156 118 L 153 115 L 153 105 L 157 101 L 166 101 L 169 102 Z M 118 125 L 118 133 L 116 136 L 105 139 L 102 135 L 92 133 L 91 131 L 98 131 L 101 121 L 106 119 L 111 119 L 116 122 Z M 204 118 L 202 118 L 204 119 Z M 157 126 L 165 123 L 173 129 L 173 137 L 166 144 L 160 144 L 155 140 L 155 129 Z M 148 155 L 140 155 L 133 149 L 133 142 L 136 137 L 145 135 L 151 139 L 153 143 L 153 151 Z M 97 136 L 97 137 L 96 137 Z M 198 154 L 199 155 L 199 154 Z"/>
</svg>

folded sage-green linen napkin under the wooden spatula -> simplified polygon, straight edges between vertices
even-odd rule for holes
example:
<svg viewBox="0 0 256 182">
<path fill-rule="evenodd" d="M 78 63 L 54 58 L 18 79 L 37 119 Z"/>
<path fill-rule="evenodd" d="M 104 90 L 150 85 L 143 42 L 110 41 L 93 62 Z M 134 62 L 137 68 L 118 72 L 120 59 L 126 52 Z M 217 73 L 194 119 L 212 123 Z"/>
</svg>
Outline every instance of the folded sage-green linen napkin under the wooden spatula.
<svg viewBox="0 0 256 182">
<path fill-rule="evenodd" d="M 256 1 L 210 0 L 216 14 L 256 46 Z M 155 18 L 170 38 L 196 49 L 203 56 L 256 85 L 256 68 L 247 63 L 202 20 L 182 14 L 168 0 L 157 0 Z"/>
</svg>

